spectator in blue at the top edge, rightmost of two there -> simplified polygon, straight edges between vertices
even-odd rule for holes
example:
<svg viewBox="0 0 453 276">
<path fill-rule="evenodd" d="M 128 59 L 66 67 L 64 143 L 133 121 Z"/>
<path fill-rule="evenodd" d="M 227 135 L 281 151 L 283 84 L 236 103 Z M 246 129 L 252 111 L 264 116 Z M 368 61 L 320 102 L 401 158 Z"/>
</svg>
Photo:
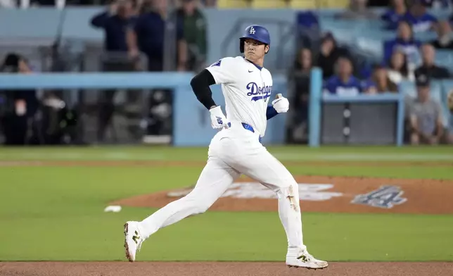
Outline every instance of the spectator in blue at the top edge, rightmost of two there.
<svg viewBox="0 0 453 276">
<path fill-rule="evenodd" d="M 404 15 L 404 20 L 409 22 L 413 32 L 427 32 L 434 30 L 438 20 L 426 12 L 432 0 L 414 0 L 409 12 Z"/>
</svg>

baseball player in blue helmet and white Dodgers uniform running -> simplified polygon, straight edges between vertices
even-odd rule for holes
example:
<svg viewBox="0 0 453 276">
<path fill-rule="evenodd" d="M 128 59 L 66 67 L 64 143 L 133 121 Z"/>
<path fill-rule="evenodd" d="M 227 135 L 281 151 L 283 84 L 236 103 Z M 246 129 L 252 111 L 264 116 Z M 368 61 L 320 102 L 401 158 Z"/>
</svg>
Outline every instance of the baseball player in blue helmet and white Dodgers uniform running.
<svg viewBox="0 0 453 276">
<path fill-rule="evenodd" d="M 204 213 L 243 174 L 278 196 L 279 217 L 288 238 L 286 265 L 327 267 L 328 263 L 314 258 L 303 243 L 297 182 L 261 144 L 267 120 L 289 108 L 288 99 L 280 94 L 269 105 L 272 75 L 263 67 L 270 46 L 269 32 L 260 25 L 251 25 L 239 41 L 244 56 L 222 58 L 191 80 L 198 101 L 210 112 L 212 127 L 221 129 L 211 140 L 208 162 L 196 187 L 145 220 L 126 222 L 125 249 L 129 261 L 135 261 L 137 249 L 151 234 L 189 215 Z M 227 115 L 212 99 L 212 84 L 222 85 Z"/>
</svg>

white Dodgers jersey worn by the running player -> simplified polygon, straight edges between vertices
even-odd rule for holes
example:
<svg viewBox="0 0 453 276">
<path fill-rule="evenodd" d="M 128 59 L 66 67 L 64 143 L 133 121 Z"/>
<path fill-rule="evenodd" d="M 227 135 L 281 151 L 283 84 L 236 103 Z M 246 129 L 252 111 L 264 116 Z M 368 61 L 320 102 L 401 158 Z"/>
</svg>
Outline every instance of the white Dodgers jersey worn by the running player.
<svg viewBox="0 0 453 276">
<path fill-rule="evenodd" d="M 266 111 L 272 93 L 272 75 L 242 56 L 222 58 L 206 68 L 222 84 L 227 120 L 251 125 L 264 137 Z"/>
</svg>

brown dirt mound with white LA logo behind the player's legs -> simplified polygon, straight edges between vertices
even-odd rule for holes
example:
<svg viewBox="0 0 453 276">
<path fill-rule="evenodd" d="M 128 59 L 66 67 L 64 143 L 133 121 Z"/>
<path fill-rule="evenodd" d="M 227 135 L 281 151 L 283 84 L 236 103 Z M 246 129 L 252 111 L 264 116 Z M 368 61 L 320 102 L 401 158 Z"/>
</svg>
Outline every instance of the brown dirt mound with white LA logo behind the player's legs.
<svg viewBox="0 0 453 276">
<path fill-rule="evenodd" d="M 453 214 L 453 181 L 372 177 L 295 177 L 302 211 L 326 213 Z M 110 205 L 160 208 L 193 188 L 158 192 L 114 201 Z M 276 194 L 241 178 L 210 211 L 277 211 Z"/>
</svg>

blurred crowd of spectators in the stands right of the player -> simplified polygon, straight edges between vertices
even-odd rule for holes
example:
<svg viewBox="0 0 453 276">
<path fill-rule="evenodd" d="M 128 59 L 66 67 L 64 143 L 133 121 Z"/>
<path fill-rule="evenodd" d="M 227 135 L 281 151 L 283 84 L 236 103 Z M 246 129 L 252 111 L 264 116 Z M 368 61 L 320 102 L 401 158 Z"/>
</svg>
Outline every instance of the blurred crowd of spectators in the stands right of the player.
<svg viewBox="0 0 453 276">
<path fill-rule="evenodd" d="M 383 29 L 393 31 L 395 38 L 381 42 L 383 57 L 373 62 L 357 62 L 357 53 L 345 44 L 339 44 L 335 32 L 324 32 L 320 39 L 310 35 L 300 37 L 301 47 L 296 55 L 292 74 L 295 82 L 294 108 L 300 110 L 300 125 L 307 122 L 310 69 L 323 70 L 324 93 L 340 96 L 358 94 L 399 93 L 408 82 L 415 83 L 406 98 L 407 142 L 411 144 L 452 144 L 453 92 L 447 98 L 442 92 L 431 92 L 436 80 L 452 79 L 452 72 L 436 63 L 436 51 L 453 53 L 453 16 L 438 19 L 428 11 L 433 8 L 451 8 L 452 1 L 392 0 L 384 12 L 376 13 L 367 7 L 366 0 L 352 0 L 345 11 L 335 15 L 336 20 L 380 20 Z M 320 18 L 302 11 L 298 25 L 302 30 L 317 25 Z M 352 32 L 352 30 L 351 30 Z M 421 41 L 416 34 L 433 32 L 435 39 Z M 302 32 L 303 33 L 303 32 Z M 377 60 L 376 60 L 377 59 Z M 435 93 L 432 96 L 431 93 Z M 445 103 L 447 101 L 447 103 Z M 448 110 L 449 108 L 449 110 Z M 448 114 L 450 113 L 450 114 Z M 305 123 L 305 130 L 307 124 Z"/>
</svg>

